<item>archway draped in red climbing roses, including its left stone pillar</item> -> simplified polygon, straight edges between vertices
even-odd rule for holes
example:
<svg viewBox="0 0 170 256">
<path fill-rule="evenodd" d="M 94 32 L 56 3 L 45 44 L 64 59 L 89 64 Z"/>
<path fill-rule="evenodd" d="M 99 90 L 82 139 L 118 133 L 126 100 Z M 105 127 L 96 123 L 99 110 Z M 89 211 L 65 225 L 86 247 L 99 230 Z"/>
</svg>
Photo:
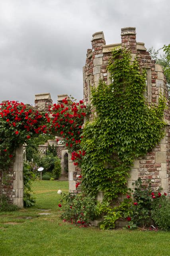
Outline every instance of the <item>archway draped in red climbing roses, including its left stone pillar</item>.
<svg viewBox="0 0 170 256">
<path fill-rule="evenodd" d="M 40 104 L 41 103 L 41 104 Z M 45 106 L 45 107 L 44 107 Z M 65 97 L 58 104 L 39 102 L 39 110 L 28 104 L 0 104 L 0 191 L 12 203 L 23 206 L 23 144 L 41 133 L 60 136 L 74 166 L 82 157 L 82 124 L 88 108 Z M 77 157 L 75 157 L 75 155 Z M 69 160 L 72 162 L 72 160 Z"/>
</svg>

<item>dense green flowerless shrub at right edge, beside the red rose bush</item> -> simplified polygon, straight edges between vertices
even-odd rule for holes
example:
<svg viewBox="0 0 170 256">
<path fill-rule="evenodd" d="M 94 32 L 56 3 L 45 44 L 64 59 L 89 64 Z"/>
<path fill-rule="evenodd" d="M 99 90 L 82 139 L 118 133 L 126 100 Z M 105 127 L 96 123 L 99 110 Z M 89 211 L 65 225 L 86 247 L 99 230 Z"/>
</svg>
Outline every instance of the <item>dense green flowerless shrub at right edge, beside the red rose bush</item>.
<svg viewBox="0 0 170 256">
<path fill-rule="evenodd" d="M 158 228 L 170 230 L 170 201 L 166 196 L 162 195 L 153 200 L 151 216 Z"/>
</svg>

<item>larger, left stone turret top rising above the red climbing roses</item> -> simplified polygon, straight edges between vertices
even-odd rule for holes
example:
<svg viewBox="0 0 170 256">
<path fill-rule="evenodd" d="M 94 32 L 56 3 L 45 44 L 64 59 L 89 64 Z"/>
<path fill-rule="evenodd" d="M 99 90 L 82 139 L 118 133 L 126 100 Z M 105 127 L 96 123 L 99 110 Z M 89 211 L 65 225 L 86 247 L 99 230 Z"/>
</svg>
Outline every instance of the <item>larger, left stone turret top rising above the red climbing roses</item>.
<svg viewBox="0 0 170 256">
<path fill-rule="evenodd" d="M 39 111 L 48 110 L 48 106 L 53 103 L 49 93 L 35 94 L 35 108 Z"/>
</svg>

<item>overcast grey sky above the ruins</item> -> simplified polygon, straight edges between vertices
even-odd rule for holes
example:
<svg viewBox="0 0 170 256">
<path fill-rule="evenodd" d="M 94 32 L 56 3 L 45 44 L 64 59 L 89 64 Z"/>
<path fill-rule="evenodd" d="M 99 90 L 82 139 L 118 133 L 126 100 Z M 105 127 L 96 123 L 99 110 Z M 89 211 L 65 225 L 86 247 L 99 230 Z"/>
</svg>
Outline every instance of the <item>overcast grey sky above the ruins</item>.
<svg viewBox="0 0 170 256">
<path fill-rule="evenodd" d="M 82 99 L 92 34 L 118 43 L 128 26 L 147 48 L 169 44 L 170 0 L 0 0 L 0 102 L 33 104 L 43 92 Z"/>
</svg>

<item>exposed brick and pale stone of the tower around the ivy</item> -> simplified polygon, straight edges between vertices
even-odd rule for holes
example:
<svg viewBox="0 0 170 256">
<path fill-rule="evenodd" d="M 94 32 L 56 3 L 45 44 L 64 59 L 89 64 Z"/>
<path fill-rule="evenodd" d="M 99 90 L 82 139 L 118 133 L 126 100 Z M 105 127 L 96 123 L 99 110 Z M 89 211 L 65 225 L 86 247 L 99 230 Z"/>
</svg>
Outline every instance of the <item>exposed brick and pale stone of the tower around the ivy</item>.
<svg viewBox="0 0 170 256">
<path fill-rule="evenodd" d="M 96 32 L 92 35 L 92 48 L 87 50 L 86 65 L 83 67 L 83 94 L 84 101 L 90 103 L 90 86 L 98 86 L 100 78 L 110 84 L 110 74 L 107 71 L 111 50 L 113 48 L 126 48 L 131 52 L 131 61 L 137 59 L 141 67 L 147 68 L 147 90 L 146 102 L 158 103 L 159 93 L 165 95 L 169 109 L 164 112 L 166 122 L 165 136 L 160 143 L 147 153 L 144 158 L 138 158 L 131 169 L 131 176 L 128 178 L 128 187 L 133 188 L 132 182 L 139 177 L 142 180 L 152 180 L 152 187 L 162 187 L 162 192 L 170 191 L 169 156 L 170 156 L 170 104 L 166 78 L 162 66 L 155 64 L 145 44 L 136 42 L 135 28 L 121 29 L 121 43 L 106 45 L 103 32 Z M 101 194 L 101 193 L 99 193 Z M 102 196 L 99 195 L 101 200 Z"/>
</svg>

